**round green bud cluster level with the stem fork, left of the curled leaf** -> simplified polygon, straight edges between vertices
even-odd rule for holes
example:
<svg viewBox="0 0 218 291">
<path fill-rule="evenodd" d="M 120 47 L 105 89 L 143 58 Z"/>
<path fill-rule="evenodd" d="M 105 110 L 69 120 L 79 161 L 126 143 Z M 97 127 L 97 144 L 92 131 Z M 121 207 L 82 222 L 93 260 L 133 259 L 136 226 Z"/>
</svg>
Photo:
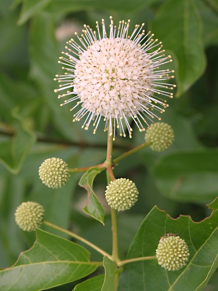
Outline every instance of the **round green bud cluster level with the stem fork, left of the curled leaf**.
<svg viewBox="0 0 218 291">
<path fill-rule="evenodd" d="M 45 160 L 39 167 L 42 183 L 48 187 L 62 187 L 69 180 L 70 174 L 67 164 L 59 158 Z"/>
</svg>

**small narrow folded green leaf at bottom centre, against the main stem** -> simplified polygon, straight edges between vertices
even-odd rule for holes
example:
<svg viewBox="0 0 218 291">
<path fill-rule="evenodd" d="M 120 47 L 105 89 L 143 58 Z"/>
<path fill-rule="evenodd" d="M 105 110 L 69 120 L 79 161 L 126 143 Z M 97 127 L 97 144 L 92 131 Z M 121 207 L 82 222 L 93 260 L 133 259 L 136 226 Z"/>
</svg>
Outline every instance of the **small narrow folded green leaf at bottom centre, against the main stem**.
<svg viewBox="0 0 218 291">
<path fill-rule="evenodd" d="M 105 268 L 105 279 L 101 291 L 114 291 L 114 276 L 117 273 L 116 265 L 107 256 L 104 256 L 103 266 Z"/>
</svg>

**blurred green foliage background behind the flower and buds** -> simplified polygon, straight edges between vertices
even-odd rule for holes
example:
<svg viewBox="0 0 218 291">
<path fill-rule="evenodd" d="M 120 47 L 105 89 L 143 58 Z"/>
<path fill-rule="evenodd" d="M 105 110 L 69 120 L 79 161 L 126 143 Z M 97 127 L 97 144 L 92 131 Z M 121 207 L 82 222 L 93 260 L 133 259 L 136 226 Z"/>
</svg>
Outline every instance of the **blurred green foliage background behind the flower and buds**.
<svg viewBox="0 0 218 291">
<path fill-rule="evenodd" d="M 62 158 L 69 167 L 101 163 L 106 157 L 104 123 L 97 133 L 73 123 L 72 104 L 59 107 L 53 80 L 61 73 L 58 58 L 65 42 L 80 33 L 83 24 L 109 16 L 145 23 L 171 54 L 176 71 L 176 97 L 162 121 L 175 133 L 164 153 L 146 148 L 121 161 L 115 176 L 133 180 L 139 199 L 119 213 L 121 258 L 150 209 L 157 205 L 173 218 L 190 215 L 201 221 L 210 215 L 206 203 L 218 196 L 218 1 L 217 0 L 1 0 L 0 1 L 0 267 L 11 266 L 30 248 L 35 233 L 26 233 L 14 221 L 22 201 L 45 208 L 45 219 L 68 228 L 111 251 L 111 222 L 104 198 L 105 172 L 94 181 L 94 191 L 105 207 L 106 226 L 86 216 L 86 192 L 78 186 L 82 173 L 71 174 L 60 189 L 42 184 L 41 163 Z M 169 66 L 168 66 L 169 67 Z M 114 157 L 144 142 L 144 133 L 117 137 Z M 57 235 L 55 230 L 47 229 Z M 91 250 L 90 250 L 91 251 Z M 95 251 L 91 258 L 101 259 Z M 100 274 L 101 269 L 97 271 Z M 52 290 L 72 290 L 76 283 Z M 218 289 L 217 273 L 205 290 Z"/>
</svg>

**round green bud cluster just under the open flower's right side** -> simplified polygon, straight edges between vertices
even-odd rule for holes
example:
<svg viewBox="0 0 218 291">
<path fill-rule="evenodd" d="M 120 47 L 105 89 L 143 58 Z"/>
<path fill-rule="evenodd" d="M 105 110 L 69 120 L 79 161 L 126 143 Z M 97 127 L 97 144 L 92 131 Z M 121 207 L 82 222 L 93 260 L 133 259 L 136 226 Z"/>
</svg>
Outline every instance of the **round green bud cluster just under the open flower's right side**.
<svg viewBox="0 0 218 291">
<path fill-rule="evenodd" d="M 151 124 L 150 128 L 146 129 L 145 140 L 147 142 L 152 142 L 150 148 L 153 149 L 153 151 L 165 151 L 174 141 L 173 129 L 164 122 Z"/>
</svg>

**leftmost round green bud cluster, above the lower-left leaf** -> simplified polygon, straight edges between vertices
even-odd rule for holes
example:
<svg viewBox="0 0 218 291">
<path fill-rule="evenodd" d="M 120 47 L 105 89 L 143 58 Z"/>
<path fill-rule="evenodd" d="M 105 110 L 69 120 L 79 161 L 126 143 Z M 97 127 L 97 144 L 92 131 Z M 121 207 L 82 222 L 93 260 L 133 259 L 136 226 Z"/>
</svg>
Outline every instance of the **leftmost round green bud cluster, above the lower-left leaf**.
<svg viewBox="0 0 218 291">
<path fill-rule="evenodd" d="M 40 227 L 44 219 L 45 210 L 36 202 L 23 202 L 17 207 L 15 221 L 22 230 L 32 231 Z"/>
</svg>

